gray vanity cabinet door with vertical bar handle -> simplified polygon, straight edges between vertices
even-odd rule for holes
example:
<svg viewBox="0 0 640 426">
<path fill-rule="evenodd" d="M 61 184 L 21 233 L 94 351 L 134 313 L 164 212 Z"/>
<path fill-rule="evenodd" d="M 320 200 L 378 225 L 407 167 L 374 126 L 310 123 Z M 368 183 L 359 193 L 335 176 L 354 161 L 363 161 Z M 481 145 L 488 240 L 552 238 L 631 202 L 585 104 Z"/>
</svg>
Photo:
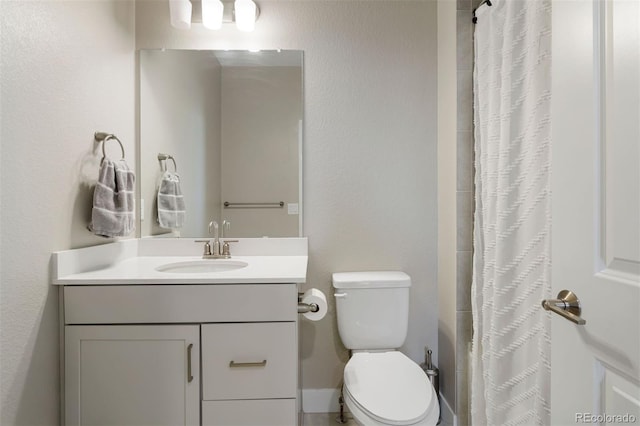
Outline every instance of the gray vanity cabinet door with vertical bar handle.
<svg viewBox="0 0 640 426">
<path fill-rule="evenodd" d="M 199 425 L 198 325 L 66 326 L 67 425 Z"/>
</svg>

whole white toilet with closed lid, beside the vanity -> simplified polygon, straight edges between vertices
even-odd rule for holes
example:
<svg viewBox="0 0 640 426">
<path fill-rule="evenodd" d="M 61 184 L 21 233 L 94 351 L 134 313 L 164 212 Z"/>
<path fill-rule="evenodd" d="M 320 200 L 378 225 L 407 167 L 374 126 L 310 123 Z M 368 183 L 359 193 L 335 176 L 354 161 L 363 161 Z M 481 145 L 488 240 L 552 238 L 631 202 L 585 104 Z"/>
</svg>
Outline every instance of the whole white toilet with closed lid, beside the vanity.
<svg viewBox="0 0 640 426">
<path fill-rule="evenodd" d="M 344 399 L 358 424 L 433 426 L 438 398 L 426 373 L 403 353 L 411 278 L 404 272 L 333 274 L 338 330 L 353 355 Z"/>
</svg>

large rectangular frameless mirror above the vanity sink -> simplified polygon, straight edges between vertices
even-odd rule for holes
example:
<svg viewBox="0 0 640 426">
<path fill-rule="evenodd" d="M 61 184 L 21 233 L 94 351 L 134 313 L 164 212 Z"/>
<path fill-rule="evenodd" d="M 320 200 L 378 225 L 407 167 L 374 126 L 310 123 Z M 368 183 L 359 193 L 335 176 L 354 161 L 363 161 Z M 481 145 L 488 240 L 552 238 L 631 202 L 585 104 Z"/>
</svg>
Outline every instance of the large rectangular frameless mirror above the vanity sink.
<svg viewBox="0 0 640 426">
<path fill-rule="evenodd" d="M 140 51 L 141 237 L 203 237 L 212 220 L 230 222 L 225 237 L 302 235 L 302 63 L 301 51 Z M 174 169 L 184 222 L 162 227 Z M 180 222 L 177 205 L 163 219 Z"/>
</svg>

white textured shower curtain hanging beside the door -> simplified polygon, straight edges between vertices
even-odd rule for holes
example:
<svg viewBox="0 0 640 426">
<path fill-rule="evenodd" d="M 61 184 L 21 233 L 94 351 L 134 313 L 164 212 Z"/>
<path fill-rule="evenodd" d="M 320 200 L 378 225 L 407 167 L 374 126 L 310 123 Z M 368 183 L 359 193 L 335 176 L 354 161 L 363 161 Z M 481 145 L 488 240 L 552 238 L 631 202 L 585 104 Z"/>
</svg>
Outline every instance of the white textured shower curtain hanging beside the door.
<svg viewBox="0 0 640 426">
<path fill-rule="evenodd" d="M 549 423 L 550 0 L 475 25 L 471 422 Z"/>
</svg>

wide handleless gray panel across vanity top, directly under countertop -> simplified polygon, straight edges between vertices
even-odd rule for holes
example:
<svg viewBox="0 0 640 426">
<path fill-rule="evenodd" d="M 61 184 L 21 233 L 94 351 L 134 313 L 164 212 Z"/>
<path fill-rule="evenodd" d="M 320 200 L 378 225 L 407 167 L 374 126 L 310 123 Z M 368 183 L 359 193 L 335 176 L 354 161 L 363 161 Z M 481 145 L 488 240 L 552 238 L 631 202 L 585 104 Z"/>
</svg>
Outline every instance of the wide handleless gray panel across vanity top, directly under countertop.
<svg viewBox="0 0 640 426">
<path fill-rule="evenodd" d="M 65 324 L 296 321 L 296 284 L 67 286 Z"/>
</svg>

